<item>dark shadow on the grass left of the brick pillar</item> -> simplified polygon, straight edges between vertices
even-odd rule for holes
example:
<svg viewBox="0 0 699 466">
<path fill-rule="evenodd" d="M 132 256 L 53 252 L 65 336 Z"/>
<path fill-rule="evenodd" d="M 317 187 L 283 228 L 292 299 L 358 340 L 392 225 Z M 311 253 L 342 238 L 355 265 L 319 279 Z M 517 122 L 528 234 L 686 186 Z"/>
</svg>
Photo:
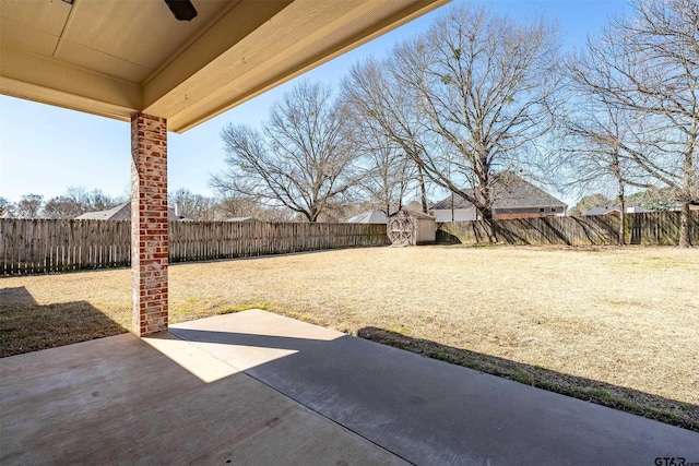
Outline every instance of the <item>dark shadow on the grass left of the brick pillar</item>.
<svg viewBox="0 0 699 466">
<path fill-rule="evenodd" d="M 39 304 L 23 286 L 0 288 L 0 357 L 126 332 L 90 302 Z"/>
</svg>

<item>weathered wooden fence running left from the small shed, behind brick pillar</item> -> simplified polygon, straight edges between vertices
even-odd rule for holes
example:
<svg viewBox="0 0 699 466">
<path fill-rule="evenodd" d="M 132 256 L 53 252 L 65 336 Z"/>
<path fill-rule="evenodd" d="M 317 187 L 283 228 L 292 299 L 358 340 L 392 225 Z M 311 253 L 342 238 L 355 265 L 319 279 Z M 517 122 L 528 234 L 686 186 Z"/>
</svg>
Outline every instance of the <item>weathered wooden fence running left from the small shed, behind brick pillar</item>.
<svg viewBox="0 0 699 466">
<path fill-rule="evenodd" d="M 386 243 L 386 225 L 170 222 L 170 262 Z M 0 219 L 0 274 L 127 266 L 129 220 Z"/>
</svg>

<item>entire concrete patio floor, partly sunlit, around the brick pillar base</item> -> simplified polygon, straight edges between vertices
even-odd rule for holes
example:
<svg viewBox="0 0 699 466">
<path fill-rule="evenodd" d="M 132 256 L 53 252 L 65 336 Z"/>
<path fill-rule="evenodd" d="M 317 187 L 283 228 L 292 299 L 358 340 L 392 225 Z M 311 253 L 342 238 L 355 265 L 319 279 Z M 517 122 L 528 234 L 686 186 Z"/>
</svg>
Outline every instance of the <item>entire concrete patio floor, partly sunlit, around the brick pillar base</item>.
<svg viewBox="0 0 699 466">
<path fill-rule="evenodd" d="M 699 462 L 699 434 L 264 311 L 0 359 L 0 463 Z"/>
</svg>

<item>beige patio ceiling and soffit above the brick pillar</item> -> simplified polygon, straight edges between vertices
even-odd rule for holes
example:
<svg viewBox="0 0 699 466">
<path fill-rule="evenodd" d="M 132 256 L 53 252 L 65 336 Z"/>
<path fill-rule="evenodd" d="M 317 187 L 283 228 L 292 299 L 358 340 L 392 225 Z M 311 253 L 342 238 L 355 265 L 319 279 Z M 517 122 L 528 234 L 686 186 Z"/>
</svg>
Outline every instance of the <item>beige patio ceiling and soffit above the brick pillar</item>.
<svg viewBox="0 0 699 466">
<path fill-rule="evenodd" d="M 448 0 L 0 0 L 0 93 L 186 131 Z"/>
</svg>

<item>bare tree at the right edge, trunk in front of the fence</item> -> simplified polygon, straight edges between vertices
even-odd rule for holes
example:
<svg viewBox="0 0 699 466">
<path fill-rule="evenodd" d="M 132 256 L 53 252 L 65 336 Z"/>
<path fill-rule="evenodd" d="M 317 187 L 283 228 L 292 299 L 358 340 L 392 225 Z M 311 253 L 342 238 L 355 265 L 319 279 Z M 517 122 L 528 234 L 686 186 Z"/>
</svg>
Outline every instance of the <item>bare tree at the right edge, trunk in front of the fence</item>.
<svg viewBox="0 0 699 466">
<path fill-rule="evenodd" d="M 691 246 L 689 204 L 699 199 L 699 4 L 636 0 L 631 14 L 589 43 L 578 67 L 576 80 L 629 118 L 628 158 L 675 191 L 679 246 Z"/>
</svg>

